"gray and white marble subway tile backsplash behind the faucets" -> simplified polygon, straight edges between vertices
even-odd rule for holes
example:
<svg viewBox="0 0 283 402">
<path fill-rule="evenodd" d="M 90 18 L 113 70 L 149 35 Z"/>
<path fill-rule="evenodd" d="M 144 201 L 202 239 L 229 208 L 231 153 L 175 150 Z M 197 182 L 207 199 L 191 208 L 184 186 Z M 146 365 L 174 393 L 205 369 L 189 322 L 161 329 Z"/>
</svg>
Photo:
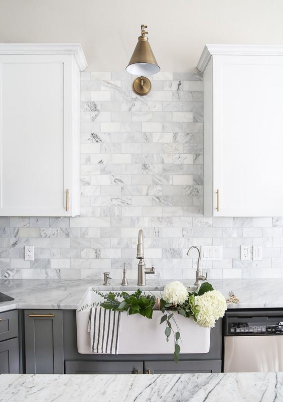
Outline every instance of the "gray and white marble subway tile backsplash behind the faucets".
<svg viewBox="0 0 283 402">
<path fill-rule="evenodd" d="M 136 243 L 156 278 L 193 279 L 191 245 L 222 245 L 222 261 L 202 261 L 210 278 L 283 276 L 283 218 L 203 216 L 203 82 L 160 72 L 139 97 L 126 72 L 81 74 L 81 214 L 0 218 L 1 278 L 136 278 Z M 24 247 L 35 247 L 35 261 Z M 262 261 L 241 261 L 260 245 Z"/>
</svg>

